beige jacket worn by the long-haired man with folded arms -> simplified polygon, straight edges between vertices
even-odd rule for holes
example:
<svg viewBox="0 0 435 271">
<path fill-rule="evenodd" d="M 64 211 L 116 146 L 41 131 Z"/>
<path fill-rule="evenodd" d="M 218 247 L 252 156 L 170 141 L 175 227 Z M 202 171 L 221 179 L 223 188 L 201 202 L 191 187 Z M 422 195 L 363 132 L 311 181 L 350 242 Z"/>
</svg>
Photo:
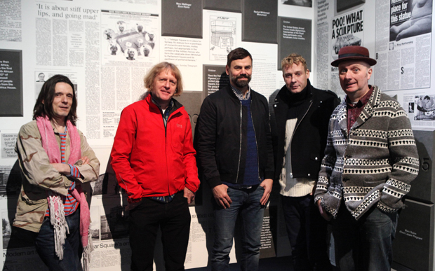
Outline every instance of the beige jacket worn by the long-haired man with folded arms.
<svg viewBox="0 0 435 271">
<path fill-rule="evenodd" d="M 88 145 L 83 133 L 78 132 L 80 135 L 81 156 L 87 156 L 89 163 L 82 165 L 81 160 L 74 163 L 81 176 L 83 176 L 83 179 L 79 178 L 74 181 L 81 183 L 96 181 L 100 171 L 100 161 L 98 161 L 92 148 Z M 54 133 L 60 149 L 60 135 L 58 132 Z M 69 158 L 69 141 L 68 134 L 65 160 Z M 67 195 L 71 180 L 50 165 L 48 155 L 41 144 L 41 134 L 36 125 L 36 120 L 22 125 L 18 134 L 15 152 L 18 153 L 20 162 L 22 186 L 18 196 L 17 214 L 15 214 L 13 225 L 32 232 L 39 232 L 42 221 L 44 221 L 44 214 L 48 208 L 48 191 Z"/>
</svg>

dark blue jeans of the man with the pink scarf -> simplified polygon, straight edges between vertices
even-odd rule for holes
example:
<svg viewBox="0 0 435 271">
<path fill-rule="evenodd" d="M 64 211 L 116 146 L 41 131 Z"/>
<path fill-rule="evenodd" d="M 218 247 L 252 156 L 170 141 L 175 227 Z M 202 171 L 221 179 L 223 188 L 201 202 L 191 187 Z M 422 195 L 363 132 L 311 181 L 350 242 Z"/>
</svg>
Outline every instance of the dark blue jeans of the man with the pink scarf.
<svg viewBox="0 0 435 271">
<path fill-rule="evenodd" d="M 80 243 L 80 208 L 74 214 L 65 216 L 69 227 L 69 234 L 63 245 L 63 260 L 55 252 L 54 230 L 50 217 L 44 218 L 38 236 L 35 240 L 36 251 L 39 257 L 53 271 L 76 271 L 81 267 L 80 256 L 83 247 Z"/>
</svg>

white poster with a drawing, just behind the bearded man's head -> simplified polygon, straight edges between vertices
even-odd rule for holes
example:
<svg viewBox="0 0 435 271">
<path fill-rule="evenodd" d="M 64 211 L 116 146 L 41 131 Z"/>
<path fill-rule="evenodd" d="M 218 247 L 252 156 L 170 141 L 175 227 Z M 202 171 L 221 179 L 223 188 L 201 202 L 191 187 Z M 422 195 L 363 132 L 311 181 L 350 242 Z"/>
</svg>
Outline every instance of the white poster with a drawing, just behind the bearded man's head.
<svg viewBox="0 0 435 271">
<path fill-rule="evenodd" d="M 236 44 L 236 18 L 210 15 L 210 60 L 227 60 Z"/>
</svg>

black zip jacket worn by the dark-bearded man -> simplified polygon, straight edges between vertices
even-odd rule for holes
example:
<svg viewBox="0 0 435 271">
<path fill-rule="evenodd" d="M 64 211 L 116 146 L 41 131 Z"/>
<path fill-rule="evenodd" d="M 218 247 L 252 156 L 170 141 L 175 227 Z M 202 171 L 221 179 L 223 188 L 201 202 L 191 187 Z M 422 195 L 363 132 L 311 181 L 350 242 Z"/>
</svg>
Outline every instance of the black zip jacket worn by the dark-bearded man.
<svg viewBox="0 0 435 271">
<path fill-rule="evenodd" d="M 267 99 L 250 90 L 250 112 L 257 140 L 258 174 L 274 178 L 274 155 Z M 246 161 L 247 110 L 230 85 L 204 99 L 196 123 L 198 166 L 210 187 L 243 183 Z"/>
</svg>

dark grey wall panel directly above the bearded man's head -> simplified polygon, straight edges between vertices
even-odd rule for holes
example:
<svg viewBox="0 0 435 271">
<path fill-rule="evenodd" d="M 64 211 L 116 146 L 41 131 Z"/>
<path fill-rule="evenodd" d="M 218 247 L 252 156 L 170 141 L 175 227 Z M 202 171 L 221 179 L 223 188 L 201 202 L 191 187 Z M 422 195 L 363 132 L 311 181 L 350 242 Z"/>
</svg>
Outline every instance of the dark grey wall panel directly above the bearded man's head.
<svg viewBox="0 0 435 271">
<path fill-rule="evenodd" d="M 277 1 L 242 0 L 242 41 L 276 43 Z"/>
</svg>

